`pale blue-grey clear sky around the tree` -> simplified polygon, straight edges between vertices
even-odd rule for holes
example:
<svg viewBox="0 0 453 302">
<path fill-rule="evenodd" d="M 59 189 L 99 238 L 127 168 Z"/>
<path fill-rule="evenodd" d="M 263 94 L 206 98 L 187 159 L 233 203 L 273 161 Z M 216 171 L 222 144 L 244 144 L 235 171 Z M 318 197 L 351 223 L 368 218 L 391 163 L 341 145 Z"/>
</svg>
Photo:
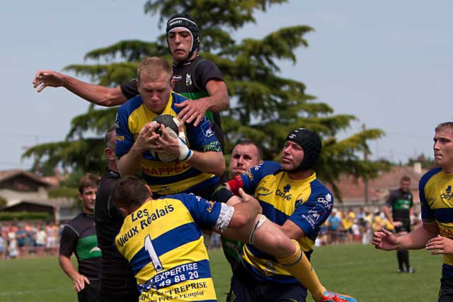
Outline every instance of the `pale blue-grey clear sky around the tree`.
<svg viewBox="0 0 453 302">
<path fill-rule="evenodd" d="M 2 6 L 0 170 L 30 168 L 33 161 L 21 159 L 25 149 L 62 141 L 71 119 L 88 109 L 64 88 L 36 93 L 35 72 L 89 63 L 86 52 L 120 40 L 155 40 L 164 29 L 158 16 L 144 14 L 143 4 L 42 0 Z M 452 11 L 448 0 L 293 0 L 256 13 L 256 24 L 234 37 L 260 38 L 292 25 L 314 28 L 305 35 L 309 47 L 295 51 L 297 62 L 281 62 L 280 76 L 302 81 L 306 93 L 334 114 L 357 117 L 339 138 L 362 124 L 382 129 L 385 137 L 369 141 L 370 158 L 405 163 L 420 153 L 432 158 L 435 126 L 453 120 Z"/>
</svg>

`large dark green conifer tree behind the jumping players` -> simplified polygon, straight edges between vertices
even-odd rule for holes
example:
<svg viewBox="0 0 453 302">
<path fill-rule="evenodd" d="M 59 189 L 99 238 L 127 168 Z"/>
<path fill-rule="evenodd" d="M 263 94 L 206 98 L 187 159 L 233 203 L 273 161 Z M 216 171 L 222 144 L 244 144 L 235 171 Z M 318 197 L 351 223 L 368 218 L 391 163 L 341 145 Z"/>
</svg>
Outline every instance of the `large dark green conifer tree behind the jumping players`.
<svg viewBox="0 0 453 302">
<path fill-rule="evenodd" d="M 279 60 L 296 62 L 294 49 L 307 47 L 304 35 L 313 30 L 307 25 L 280 28 L 261 39 L 235 41 L 230 33 L 246 23 L 254 23 L 253 13 L 266 11 L 286 0 L 229 0 L 229 1 L 157 1 L 144 4 L 145 13 L 159 14 L 163 25 L 170 16 L 188 12 L 200 25 L 202 55 L 212 59 L 224 74 L 230 103 L 228 114 L 222 115 L 226 134 L 226 151 L 242 138 L 250 138 L 263 145 L 265 158 L 277 158 L 287 133 L 297 127 L 313 129 L 323 137 L 323 153 L 319 163 L 319 177 L 333 185 L 340 173 L 372 178 L 388 165 L 384 162 L 363 161 L 357 153 L 368 151 L 367 140 L 384 133 L 367 129 L 338 141 L 336 134 L 348 129 L 355 120 L 352 115 L 333 115 L 326 103 L 316 101 L 305 93 L 304 83 L 280 76 Z M 155 42 L 120 41 L 86 54 L 86 59 L 105 60 L 106 64 L 67 66 L 76 74 L 91 76 L 94 83 L 116 86 L 134 78 L 141 59 L 159 55 L 171 59 L 163 33 Z M 117 57 L 125 62 L 117 62 Z M 115 59 L 115 62 L 113 60 Z M 24 156 L 35 155 L 37 160 L 47 156 L 46 163 L 69 165 L 72 168 L 98 169 L 94 151 L 96 141 L 85 144 L 83 134 L 88 130 L 101 134 L 113 122 L 116 109 L 90 108 L 85 115 L 75 117 L 71 131 L 63 143 L 34 146 Z M 74 153 L 72 148 L 77 149 Z M 85 150 L 85 151 L 84 151 Z M 93 151 L 93 152 L 89 152 Z M 80 154 L 81 153 L 81 154 Z M 71 160 L 71 161 L 69 161 Z M 338 193 L 338 192 L 337 192 Z"/>
</svg>

